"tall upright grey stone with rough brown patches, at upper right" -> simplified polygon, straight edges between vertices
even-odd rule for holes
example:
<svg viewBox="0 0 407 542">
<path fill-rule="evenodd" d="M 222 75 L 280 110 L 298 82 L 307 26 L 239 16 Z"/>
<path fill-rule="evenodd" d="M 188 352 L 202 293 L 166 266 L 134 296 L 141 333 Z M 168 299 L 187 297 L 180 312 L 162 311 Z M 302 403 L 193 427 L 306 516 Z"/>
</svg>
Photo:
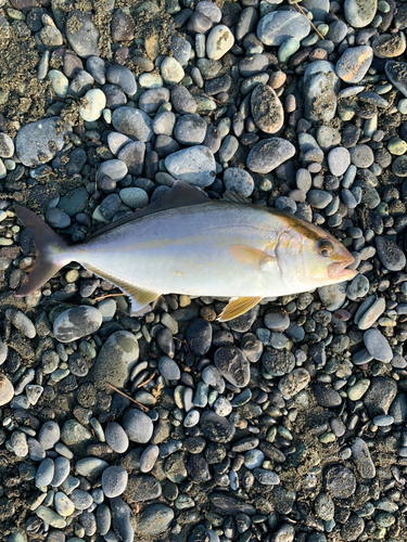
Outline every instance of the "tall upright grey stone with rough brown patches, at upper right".
<svg viewBox="0 0 407 542">
<path fill-rule="evenodd" d="M 317 124 L 330 124 L 336 113 L 341 81 L 330 62 L 313 62 L 304 73 L 304 116 Z"/>
</svg>

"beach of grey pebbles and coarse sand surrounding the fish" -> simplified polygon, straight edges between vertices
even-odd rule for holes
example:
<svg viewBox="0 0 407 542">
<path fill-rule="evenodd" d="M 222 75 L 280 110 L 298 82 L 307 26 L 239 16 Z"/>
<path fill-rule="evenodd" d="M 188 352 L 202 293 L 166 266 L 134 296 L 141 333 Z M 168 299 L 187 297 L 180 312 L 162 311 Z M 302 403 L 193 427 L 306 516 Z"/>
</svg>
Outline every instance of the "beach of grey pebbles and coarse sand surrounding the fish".
<svg viewBox="0 0 407 542">
<path fill-rule="evenodd" d="M 0 542 L 407 541 L 406 29 L 399 0 L 0 0 Z M 358 274 L 225 323 L 77 263 L 15 296 L 15 204 L 78 244 L 176 180 Z"/>
</svg>

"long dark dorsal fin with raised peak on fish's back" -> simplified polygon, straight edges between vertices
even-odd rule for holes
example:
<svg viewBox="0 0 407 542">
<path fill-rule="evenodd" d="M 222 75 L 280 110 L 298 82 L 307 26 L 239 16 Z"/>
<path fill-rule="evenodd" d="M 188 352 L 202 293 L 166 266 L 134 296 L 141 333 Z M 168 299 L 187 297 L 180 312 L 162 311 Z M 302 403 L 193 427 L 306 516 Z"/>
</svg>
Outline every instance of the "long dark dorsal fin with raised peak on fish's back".
<svg viewBox="0 0 407 542">
<path fill-rule="evenodd" d="M 104 228 L 91 233 L 87 241 L 91 237 L 97 237 L 106 233 L 111 230 L 116 229 L 118 225 L 127 224 L 141 217 L 147 217 L 148 215 L 153 215 L 161 210 L 173 209 L 175 207 L 185 207 L 187 205 L 200 205 L 204 203 L 211 203 L 211 199 L 206 194 L 198 190 L 195 186 L 191 186 L 188 182 L 176 181 L 170 191 L 165 194 L 165 196 L 160 197 L 152 204 L 143 207 L 142 209 L 131 212 L 131 215 L 126 215 L 125 217 L 112 222 Z"/>
</svg>

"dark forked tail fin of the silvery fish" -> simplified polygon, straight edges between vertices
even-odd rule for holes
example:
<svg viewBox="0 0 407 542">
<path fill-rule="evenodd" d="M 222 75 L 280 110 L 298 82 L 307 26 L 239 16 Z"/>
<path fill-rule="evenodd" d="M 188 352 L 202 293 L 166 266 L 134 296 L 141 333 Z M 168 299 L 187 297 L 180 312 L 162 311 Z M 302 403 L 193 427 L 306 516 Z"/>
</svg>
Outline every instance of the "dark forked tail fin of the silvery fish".
<svg viewBox="0 0 407 542">
<path fill-rule="evenodd" d="M 37 251 L 36 261 L 26 276 L 17 297 L 28 296 L 49 281 L 68 261 L 61 258 L 67 249 L 66 243 L 35 212 L 20 205 L 14 205 L 18 220 L 34 233 L 34 244 Z"/>
</svg>

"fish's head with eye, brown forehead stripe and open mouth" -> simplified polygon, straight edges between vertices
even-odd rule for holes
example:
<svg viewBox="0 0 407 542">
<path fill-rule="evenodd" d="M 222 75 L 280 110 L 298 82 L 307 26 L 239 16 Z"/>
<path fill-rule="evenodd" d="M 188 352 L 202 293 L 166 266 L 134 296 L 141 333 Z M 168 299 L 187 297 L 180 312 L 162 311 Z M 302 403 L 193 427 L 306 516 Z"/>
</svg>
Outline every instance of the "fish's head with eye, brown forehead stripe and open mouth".
<svg viewBox="0 0 407 542">
<path fill-rule="evenodd" d="M 296 217 L 280 235 L 276 255 L 284 281 L 297 292 L 351 281 L 357 274 L 347 269 L 355 258 L 340 241 Z"/>
</svg>

